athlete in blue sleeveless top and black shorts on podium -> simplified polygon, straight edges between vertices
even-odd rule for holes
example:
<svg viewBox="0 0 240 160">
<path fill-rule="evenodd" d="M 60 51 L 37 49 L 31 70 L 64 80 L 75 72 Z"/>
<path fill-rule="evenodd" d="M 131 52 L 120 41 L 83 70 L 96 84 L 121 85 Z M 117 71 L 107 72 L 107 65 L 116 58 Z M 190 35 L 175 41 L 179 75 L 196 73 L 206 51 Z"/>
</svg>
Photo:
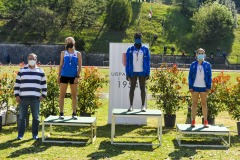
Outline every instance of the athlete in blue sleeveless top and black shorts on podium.
<svg viewBox="0 0 240 160">
<path fill-rule="evenodd" d="M 77 83 L 80 78 L 82 69 L 82 56 L 81 53 L 75 50 L 75 40 L 73 37 L 67 37 L 65 40 L 66 50 L 61 52 L 58 83 L 60 84 L 60 119 L 64 119 L 64 98 L 67 91 L 68 84 L 70 84 L 72 95 L 72 118 L 77 119 Z"/>
</svg>

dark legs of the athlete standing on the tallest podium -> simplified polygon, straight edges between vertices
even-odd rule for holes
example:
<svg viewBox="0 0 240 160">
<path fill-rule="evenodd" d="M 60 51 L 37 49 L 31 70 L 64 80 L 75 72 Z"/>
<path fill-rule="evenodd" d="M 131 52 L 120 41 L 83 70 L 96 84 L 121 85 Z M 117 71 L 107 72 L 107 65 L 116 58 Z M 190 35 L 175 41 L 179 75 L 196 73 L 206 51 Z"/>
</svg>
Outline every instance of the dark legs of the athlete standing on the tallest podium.
<svg viewBox="0 0 240 160">
<path fill-rule="evenodd" d="M 146 77 L 136 76 L 136 75 L 133 77 L 130 77 L 130 92 L 129 92 L 130 105 L 133 105 L 134 91 L 136 88 L 137 79 L 139 80 L 139 85 L 141 90 L 142 106 L 144 106 L 145 97 L 146 97 L 146 91 L 145 91 Z"/>
</svg>

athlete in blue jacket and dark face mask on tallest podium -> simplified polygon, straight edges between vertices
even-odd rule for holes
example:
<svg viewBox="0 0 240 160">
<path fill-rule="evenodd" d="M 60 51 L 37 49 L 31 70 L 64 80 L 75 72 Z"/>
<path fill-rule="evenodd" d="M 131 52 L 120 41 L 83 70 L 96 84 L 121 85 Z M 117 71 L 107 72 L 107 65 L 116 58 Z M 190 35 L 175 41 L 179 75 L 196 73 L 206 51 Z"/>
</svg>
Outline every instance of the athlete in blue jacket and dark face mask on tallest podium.
<svg viewBox="0 0 240 160">
<path fill-rule="evenodd" d="M 130 107 L 128 112 L 133 110 L 134 90 L 136 88 L 137 79 L 141 90 L 142 107 L 141 111 L 146 112 L 145 107 L 145 83 L 150 75 L 150 53 L 149 49 L 142 45 L 142 34 L 134 35 L 134 45 L 129 47 L 126 53 L 126 79 L 130 81 L 129 100 Z"/>
</svg>

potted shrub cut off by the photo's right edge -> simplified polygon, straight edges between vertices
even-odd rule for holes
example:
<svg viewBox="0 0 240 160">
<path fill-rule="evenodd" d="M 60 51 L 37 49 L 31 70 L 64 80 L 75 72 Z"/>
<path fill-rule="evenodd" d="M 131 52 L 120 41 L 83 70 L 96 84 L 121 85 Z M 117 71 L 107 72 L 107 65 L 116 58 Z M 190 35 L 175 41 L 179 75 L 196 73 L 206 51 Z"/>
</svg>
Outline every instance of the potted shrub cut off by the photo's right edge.
<svg viewBox="0 0 240 160">
<path fill-rule="evenodd" d="M 237 83 L 229 87 L 230 94 L 226 99 L 226 109 L 231 117 L 237 120 L 238 136 L 240 136 L 240 77 L 236 78 Z"/>
</svg>

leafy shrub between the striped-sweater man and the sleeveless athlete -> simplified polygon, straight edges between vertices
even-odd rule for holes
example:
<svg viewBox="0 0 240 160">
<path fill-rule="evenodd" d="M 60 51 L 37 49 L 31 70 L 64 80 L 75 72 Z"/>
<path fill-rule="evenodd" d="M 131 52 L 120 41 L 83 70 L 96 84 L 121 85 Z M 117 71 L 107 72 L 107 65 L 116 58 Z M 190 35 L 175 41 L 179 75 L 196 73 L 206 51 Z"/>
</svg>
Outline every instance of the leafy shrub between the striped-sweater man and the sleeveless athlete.
<svg viewBox="0 0 240 160">
<path fill-rule="evenodd" d="M 47 97 L 41 103 L 40 114 L 47 118 L 50 115 L 59 113 L 59 85 L 57 83 L 58 69 L 50 67 L 47 77 Z"/>
</svg>

